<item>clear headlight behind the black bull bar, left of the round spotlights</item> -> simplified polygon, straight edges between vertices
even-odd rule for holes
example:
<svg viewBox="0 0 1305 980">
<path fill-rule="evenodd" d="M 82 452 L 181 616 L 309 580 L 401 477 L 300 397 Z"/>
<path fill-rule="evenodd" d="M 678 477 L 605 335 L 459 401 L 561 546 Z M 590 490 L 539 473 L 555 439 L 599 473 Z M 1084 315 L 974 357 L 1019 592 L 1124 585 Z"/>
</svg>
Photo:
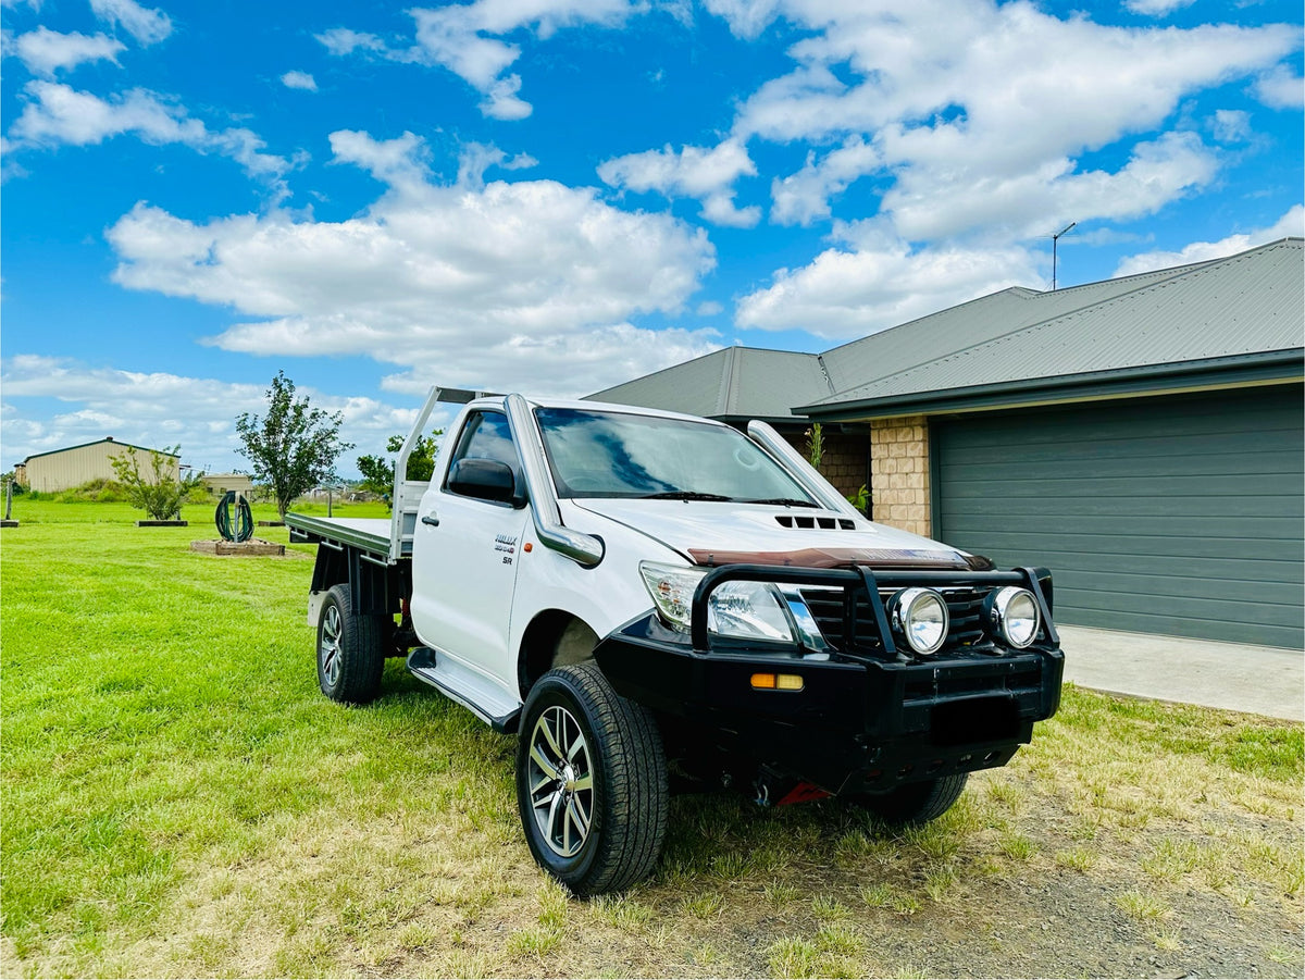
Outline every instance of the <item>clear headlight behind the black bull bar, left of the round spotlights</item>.
<svg viewBox="0 0 1305 980">
<path fill-rule="evenodd" d="M 662 619 L 675 629 L 688 630 L 693 592 L 707 570 L 641 561 L 639 574 Z M 767 582 L 726 582 L 713 591 L 707 600 L 707 629 L 735 639 L 795 642 L 784 600 Z"/>
</svg>

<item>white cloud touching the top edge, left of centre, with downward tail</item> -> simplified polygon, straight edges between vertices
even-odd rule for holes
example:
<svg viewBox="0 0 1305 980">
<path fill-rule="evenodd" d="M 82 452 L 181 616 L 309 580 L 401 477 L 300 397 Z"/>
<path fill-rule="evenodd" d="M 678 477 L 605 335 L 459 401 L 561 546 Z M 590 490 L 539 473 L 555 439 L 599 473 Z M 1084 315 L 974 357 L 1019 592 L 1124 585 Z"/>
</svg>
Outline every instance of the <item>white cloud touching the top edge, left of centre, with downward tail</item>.
<svg viewBox="0 0 1305 980">
<path fill-rule="evenodd" d="M 647 8 L 642 0 L 474 0 L 408 10 L 416 23 L 415 44 L 392 46 L 375 34 L 333 27 L 317 39 L 333 55 L 371 52 L 392 61 L 420 61 L 448 68 L 483 97 L 480 111 L 491 119 L 525 119 L 532 111 L 521 98 L 521 76 L 508 69 L 521 47 L 502 37 L 522 29 L 542 40 L 564 27 L 619 27 Z"/>
</svg>

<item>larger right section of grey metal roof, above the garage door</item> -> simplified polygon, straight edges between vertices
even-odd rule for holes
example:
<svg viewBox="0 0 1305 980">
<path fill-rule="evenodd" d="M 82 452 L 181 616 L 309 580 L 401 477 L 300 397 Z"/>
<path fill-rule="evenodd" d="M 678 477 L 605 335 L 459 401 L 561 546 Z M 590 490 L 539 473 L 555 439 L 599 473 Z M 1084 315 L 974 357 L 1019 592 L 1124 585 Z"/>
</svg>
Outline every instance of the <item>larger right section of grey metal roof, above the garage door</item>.
<svg viewBox="0 0 1305 980">
<path fill-rule="evenodd" d="M 1082 385 L 1163 389 L 1218 372 L 1298 376 L 1302 309 L 1301 239 L 1057 292 L 1007 290 L 826 352 L 839 390 L 799 411 L 959 407 Z"/>
</svg>

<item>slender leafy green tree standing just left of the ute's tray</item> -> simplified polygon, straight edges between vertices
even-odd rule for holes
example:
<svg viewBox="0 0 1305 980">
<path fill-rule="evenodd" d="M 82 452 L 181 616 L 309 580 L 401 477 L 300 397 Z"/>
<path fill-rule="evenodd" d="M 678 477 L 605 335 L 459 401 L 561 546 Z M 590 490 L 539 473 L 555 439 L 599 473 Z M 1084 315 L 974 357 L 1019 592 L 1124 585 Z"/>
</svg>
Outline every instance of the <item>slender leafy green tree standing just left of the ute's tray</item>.
<svg viewBox="0 0 1305 980">
<path fill-rule="evenodd" d="M 295 398 L 295 382 L 278 371 L 268 389 L 268 415 L 241 412 L 236 432 L 240 455 L 253 463 L 253 478 L 277 498 L 282 519 L 295 497 L 335 475 L 335 457 L 352 449 L 339 438 L 342 412 L 329 415 L 309 407 L 308 395 Z"/>
</svg>

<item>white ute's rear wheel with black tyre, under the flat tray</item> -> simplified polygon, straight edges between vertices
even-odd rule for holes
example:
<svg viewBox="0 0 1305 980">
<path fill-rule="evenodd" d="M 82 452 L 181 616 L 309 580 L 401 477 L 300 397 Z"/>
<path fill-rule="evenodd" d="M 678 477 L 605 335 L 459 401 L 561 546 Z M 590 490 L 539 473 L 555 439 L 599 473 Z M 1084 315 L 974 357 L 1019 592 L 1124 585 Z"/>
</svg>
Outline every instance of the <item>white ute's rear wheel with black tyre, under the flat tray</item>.
<svg viewBox="0 0 1305 980">
<path fill-rule="evenodd" d="M 331 586 L 317 619 L 317 684 L 322 694 L 345 705 L 376 701 L 390 626 L 385 616 L 351 612 L 348 586 Z"/>
</svg>

